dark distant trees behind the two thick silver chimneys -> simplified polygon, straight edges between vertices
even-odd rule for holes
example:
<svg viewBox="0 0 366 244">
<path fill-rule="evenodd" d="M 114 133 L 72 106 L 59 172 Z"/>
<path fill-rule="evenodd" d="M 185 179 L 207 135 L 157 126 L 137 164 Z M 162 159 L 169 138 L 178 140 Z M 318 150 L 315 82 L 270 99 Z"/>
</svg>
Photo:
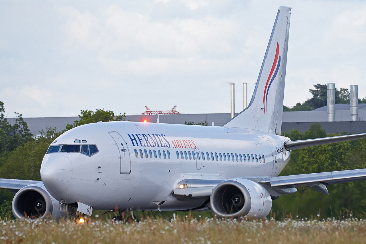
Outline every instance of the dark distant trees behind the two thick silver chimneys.
<svg viewBox="0 0 366 244">
<path fill-rule="evenodd" d="M 294 107 L 283 106 L 283 111 L 310 111 L 317 108 L 326 106 L 327 104 L 327 85 L 316 84 L 315 89 L 309 89 L 309 92 L 313 97 L 306 100 L 303 103 L 296 103 Z M 350 103 L 350 91 L 347 88 L 341 88 L 335 90 L 336 104 L 348 104 Z M 358 99 L 358 103 L 366 103 L 366 97 Z"/>
</svg>

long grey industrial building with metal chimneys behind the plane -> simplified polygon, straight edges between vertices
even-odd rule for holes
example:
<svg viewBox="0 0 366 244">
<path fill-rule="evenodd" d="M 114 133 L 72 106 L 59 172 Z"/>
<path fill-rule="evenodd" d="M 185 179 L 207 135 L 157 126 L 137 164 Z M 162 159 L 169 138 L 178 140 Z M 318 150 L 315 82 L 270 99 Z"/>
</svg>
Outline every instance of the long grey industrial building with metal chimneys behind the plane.
<svg viewBox="0 0 366 244">
<path fill-rule="evenodd" d="M 247 106 L 247 90 L 244 83 L 244 108 Z M 184 124 L 184 122 L 207 122 L 209 126 L 223 126 L 234 117 L 234 84 L 231 84 L 231 113 L 222 114 L 160 114 L 159 123 Z M 312 111 L 283 112 L 282 131 L 291 129 L 305 131 L 315 122 L 320 122 L 327 133 L 346 131 L 347 133 L 363 133 L 366 131 L 366 104 L 358 104 L 358 87 L 351 86 L 350 104 L 335 104 L 335 84 L 328 84 L 328 105 Z M 147 108 L 148 110 L 148 108 Z M 175 107 L 173 108 L 175 110 Z M 152 111 L 153 112 L 153 111 Z M 127 115 L 126 121 L 156 122 L 158 115 Z M 161 111 L 160 111 L 161 112 Z M 235 113 L 237 115 L 238 113 Z M 57 131 L 65 129 L 79 117 L 24 118 L 32 134 L 39 134 L 47 127 L 56 127 Z M 8 118 L 14 124 L 15 118 Z"/>
</svg>

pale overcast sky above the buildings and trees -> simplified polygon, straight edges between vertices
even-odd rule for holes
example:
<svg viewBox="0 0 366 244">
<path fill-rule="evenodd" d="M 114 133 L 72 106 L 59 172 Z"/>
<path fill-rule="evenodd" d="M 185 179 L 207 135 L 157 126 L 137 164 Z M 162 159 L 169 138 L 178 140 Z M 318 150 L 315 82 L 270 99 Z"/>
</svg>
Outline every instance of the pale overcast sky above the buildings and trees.
<svg viewBox="0 0 366 244">
<path fill-rule="evenodd" d="M 366 97 L 364 1 L 1 1 L 0 101 L 8 117 L 243 109 L 279 6 L 292 7 L 284 105 L 314 84 Z"/>
</svg>

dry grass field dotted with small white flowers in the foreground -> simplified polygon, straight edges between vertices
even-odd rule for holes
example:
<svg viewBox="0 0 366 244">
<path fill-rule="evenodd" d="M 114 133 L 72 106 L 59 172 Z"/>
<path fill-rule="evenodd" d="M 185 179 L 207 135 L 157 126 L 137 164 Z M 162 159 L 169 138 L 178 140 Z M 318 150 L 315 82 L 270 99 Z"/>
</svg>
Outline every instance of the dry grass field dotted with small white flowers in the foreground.
<svg viewBox="0 0 366 244">
<path fill-rule="evenodd" d="M 187 216 L 187 217 L 186 217 Z M 112 223 L 89 219 L 1 221 L 1 243 L 366 243 L 366 219 L 223 220 L 195 218 L 140 219 Z M 174 219 L 175 218 L 175 219 Z"/>
</svg>

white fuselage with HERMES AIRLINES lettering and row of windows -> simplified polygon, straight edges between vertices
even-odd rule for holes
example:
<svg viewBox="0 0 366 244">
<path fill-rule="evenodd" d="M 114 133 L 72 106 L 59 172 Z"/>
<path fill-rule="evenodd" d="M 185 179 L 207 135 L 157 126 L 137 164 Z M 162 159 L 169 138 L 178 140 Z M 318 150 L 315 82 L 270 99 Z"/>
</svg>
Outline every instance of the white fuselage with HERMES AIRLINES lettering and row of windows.
<svg viewBox="0 0 366 244">
<path fill-rule="evenodd" d="M 187 210 L 207 199 L 173 196 L 179 181 L 277 176 L 290 160 L 285 140 L 290 139 L 242 128 L 92 123 L 71 129 L 51 144 L 60 149 L 44 156 L 41 177 L 49 193 L 63 203 L 82 202 L 94 209 Z M 63 145 L 96 145 L 98 152 L 61 152 Z"/>
</svg>

